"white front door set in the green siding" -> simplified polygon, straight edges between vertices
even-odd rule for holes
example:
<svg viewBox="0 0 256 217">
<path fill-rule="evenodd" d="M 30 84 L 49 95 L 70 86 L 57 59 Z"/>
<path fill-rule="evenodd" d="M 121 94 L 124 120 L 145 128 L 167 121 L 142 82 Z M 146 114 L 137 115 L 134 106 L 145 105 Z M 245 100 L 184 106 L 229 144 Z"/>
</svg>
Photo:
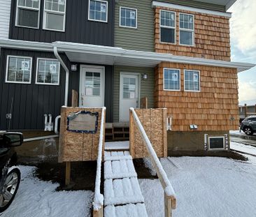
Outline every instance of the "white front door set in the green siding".
<svg viewBox="0 0 256 217">
<path fill-rule="evenodd" d="M 120 122 L 129 121 L 129 108 L 138 107 L 138 75 L 120 74 Z"/>
</svg>

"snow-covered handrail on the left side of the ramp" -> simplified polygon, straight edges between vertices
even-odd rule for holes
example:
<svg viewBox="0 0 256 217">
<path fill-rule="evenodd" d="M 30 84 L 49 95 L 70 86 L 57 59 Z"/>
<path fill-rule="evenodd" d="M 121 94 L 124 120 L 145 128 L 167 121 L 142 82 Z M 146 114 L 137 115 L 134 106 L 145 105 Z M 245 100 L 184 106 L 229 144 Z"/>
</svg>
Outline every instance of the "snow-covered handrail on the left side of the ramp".
<svg viewBox="0 0 256 217">
<path fill-rule="evenodd" d="M 104 195 L 101 194 L 101 162 L 102 162 L 102 152 L 104 144 L 104 131 L 105 131 L 105 111 L 106 107 L 102 107 L 101 115 L 101 130 L 99 135 L 99 147 L 98 147 L 98 158 L 97 158 L 97 172 L 95 180 L 95 190 L 94 190 L 94 200 L 93 200 L 93 216 L 94 217 L 103 217 L 104 209 Z"/>
</svg>

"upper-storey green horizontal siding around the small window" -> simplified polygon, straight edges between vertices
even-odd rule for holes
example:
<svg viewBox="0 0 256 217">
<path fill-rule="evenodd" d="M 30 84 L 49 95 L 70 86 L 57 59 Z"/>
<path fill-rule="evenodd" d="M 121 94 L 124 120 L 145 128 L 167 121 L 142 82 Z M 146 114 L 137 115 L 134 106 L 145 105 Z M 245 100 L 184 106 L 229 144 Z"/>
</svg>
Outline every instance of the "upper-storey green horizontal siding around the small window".
<svg viewBox="0 0 256 217">
<path fill-rule="evenodd" d="M 137 9 L 137 29 L 119 27 L 120 6 Z M 151 0 L 119 0 L 115 4 L 115 47 L 155 52 L 154 22 Z"/>
</svg>

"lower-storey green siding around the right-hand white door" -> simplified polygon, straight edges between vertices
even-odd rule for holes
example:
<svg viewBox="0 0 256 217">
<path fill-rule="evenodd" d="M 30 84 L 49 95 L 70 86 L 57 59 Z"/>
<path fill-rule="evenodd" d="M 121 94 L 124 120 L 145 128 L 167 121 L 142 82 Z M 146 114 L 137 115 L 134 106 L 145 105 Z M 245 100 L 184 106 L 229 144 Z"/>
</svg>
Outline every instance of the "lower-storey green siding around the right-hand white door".
<svg viewBox="0 0 256 217">
<path fill-rule="evenodd" d="M 154 68 L 114 66 L 114 88 L 113 88 L 113 119 L 119 122 L 119 93 L 120 93 L 120 73 L 146 73 L 147 80 L 141 79 L 141 98 L 148 97 L 148 107 L 154 107 Z"/>
</svg>

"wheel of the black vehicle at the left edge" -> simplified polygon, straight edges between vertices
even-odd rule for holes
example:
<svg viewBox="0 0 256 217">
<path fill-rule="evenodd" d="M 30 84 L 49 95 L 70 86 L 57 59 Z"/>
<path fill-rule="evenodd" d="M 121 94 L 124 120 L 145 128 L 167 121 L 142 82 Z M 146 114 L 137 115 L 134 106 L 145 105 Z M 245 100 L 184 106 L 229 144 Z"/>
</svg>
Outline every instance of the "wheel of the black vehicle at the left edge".
<svg viewBox="0 0 256 217">
<path fill-rule="evenodd" d="M 20 186 L 20 170 L 15 168 L 8 172 L 6 181 L 3 185 L 3 191 L 0 192 L 0 213 L 5 211 L 13 202 Z"/>
</svg>

